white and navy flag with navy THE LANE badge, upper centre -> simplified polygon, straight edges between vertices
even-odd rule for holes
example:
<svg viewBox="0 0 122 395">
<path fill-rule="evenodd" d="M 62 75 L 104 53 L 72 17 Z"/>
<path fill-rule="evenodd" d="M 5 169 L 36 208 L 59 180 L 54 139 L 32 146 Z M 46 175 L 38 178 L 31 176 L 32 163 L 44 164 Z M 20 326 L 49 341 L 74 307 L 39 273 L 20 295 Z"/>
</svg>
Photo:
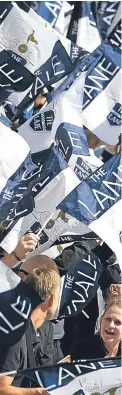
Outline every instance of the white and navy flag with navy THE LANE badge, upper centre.
<svg viewBox="0 0 122 395">
<path fill-rule="evenodd" d="M 84 78 L 83 74 L 82 85 Z M 58 100 L 49 103 L 44 110 L 38 111 L 20 126 L 19 134 L 28 142 L 32 153 L 40 148 L 48 148 L 52 141 L 57 143 L 58 150 L 67 162 L 74 156 L 75 163 L 78 154 L 89 155 L 87 138 L 81 127 L 82 119 L 79 114 L 79 103 L 83 100 L 82 85 L 78 90 L 78 83 L 76 87 L 74 83 Z"/>
</svg>

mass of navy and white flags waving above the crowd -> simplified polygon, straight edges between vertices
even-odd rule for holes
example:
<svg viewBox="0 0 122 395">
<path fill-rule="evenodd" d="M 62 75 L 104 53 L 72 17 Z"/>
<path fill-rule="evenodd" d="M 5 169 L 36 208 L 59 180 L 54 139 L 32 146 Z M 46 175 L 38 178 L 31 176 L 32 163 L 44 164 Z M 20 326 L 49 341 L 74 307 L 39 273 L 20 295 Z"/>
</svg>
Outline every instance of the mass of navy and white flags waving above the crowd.
<svg viewBox="0 0 122 395">
<path fill-rule="evenodd" d="M 103 164 L 86 135 L 88 129 L 102 144 L 120 142 L 120 33 L 119 1 L 0 3 L 0 247 L 7 253 L 27 232 L 40 236 L 32 256 L 67 234 L 73 242 L 92 230 L 121 264 L 121 154 Z M 50 87 L 36 110 L 35 98 Z M 81 311 L 95 295 L 101 265 L 91 259 L 62 279 L 59 318 Z M 25 314 L 25 328 L 31 296 L 23 313 L 17 279 L 2 262 L 1 270 L 14 321 L 6 293 L 0 329 L 4 335 L 9 327 L 12 336 L 20 324 L 15 311 L 20 319 Z"/>
</svg>

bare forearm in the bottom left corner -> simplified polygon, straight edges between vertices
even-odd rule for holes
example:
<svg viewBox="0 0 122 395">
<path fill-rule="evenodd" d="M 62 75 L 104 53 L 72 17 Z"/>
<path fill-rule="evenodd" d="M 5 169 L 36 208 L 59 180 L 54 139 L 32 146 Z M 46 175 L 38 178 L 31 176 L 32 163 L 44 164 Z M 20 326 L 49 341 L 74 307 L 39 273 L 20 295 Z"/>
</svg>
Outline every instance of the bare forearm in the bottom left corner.
<svg viewBox="0 0 122 395">
<path fill-rule="evenodd" d="M 13 377 L 0 376 L 0 395 L 49 395 L 44 388 L 18 388 L 11 386 Z"/>
</svg>

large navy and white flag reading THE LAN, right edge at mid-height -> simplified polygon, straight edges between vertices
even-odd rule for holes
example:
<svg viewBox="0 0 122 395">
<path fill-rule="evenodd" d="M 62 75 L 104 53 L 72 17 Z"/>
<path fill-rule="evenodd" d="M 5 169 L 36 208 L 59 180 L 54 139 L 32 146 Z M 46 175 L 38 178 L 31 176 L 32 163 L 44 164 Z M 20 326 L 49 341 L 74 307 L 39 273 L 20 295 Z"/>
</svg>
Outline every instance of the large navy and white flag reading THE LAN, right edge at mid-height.
<svg viewBox="0 0 122 395">
<path fill-rule="evenodd" d="M 117 154 L 80 183 L 57 207 L 88 225 L 109 245 L 119 260 L 122 253 L 119 237 L 122 206 L 121 173 L 121 154 Z"/>
</svg>

